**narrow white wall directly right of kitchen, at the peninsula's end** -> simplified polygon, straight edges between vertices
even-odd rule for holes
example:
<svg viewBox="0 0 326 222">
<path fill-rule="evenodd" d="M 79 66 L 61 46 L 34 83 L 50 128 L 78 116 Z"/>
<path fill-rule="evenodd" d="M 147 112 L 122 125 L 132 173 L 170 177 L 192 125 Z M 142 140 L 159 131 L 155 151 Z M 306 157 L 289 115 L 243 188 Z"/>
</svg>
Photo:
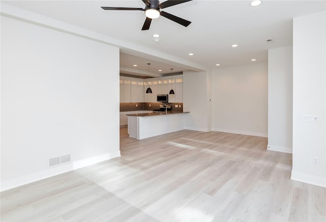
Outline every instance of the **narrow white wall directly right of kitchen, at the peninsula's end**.
<svg viewBox="0 0 326 222">
<path fill-rule="evenodd" d="M 210 131 L 207 81 L 208 73 L 206 71 L 183 72 L 183 111 L 190 112 L 185 117 L 186 129 Z"/>
</svg>

